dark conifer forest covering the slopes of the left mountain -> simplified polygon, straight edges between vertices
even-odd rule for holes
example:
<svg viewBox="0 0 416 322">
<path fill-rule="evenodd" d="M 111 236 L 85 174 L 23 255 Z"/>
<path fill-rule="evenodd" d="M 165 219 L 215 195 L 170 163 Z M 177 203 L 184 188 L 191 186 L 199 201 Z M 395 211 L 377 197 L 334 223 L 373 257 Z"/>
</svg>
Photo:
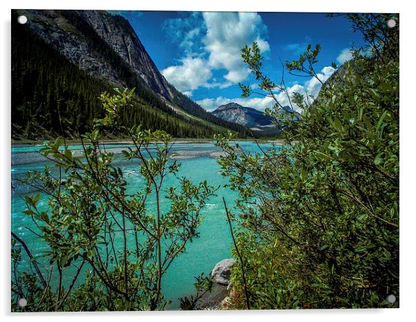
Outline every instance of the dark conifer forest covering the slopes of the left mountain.
<svg viewBox="0 0 416 322">
<path fill-rule="evenodd" d="M 241 137 L 247 135 L 243 126 L 214 117 L 174 91 L 176 104 L 200 120 L 176 113 L 75 11 L 62 10 L 61 13 L 83 30 L 90 40 L 91 50 L 110 62 L 122 82 L 129 88 L 136 88 L 132 106 L 122 111 L 129 126 L 142 124 L 143 129 L 164 130 L 177 138 L 208 138 L 225 128 L 237 131 Z M 112 91 L 114 85 L 70 63 L 30 28 L 17 23 L 16 12 L 12 15 L 12 138 L 36 140 L 57 135 L 77 138 L 91 131 L 95 119 L 104 115 L 98 97 L 104 91 Z"/>
</svg>

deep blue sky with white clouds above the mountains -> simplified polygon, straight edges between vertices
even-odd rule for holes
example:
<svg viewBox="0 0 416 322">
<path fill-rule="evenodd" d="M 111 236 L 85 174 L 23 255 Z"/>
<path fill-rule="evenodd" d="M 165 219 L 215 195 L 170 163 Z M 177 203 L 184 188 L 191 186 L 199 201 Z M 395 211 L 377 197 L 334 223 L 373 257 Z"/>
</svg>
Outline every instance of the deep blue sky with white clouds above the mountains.
<svg viewBox="0 0 416 322">
<path fill-rule="evenodd" d="M 321 80 L 350 57 L 352 44 L 363 44 L 345 18 L 322 13 L 279 12 L 173 12 L 119 11 L 133 26 L 147 52 L 167 80 L 208 111 L 221 104 L 238 102 L 263 111 L 272 106 L 269 97 L 241 97 L 238 82 L 256 88 L 240 58 L 245 44 L 257 41 L 265 61 L 264 72 L 280 82 L 280 60 L 298 59 L 308 44 L 322 49 L 316 71 Z M 316 79 L 285 74 L 290 92 L 316 95 Z M 278 95 L 278 93 L 276 93 Z M 287 98 L 278 95 L 282 104 Z"/>
</svg>

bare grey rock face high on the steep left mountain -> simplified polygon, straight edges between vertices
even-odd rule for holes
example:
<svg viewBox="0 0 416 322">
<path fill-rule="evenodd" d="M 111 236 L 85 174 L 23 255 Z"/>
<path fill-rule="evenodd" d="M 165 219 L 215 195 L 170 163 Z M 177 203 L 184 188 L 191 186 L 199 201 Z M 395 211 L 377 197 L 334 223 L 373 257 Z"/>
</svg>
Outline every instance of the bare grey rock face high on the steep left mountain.
<svg viewBox="0 0 416 322">
<path fill-rule="evenodd" d="M 71 62 L 95 77 L 126 86 L 125 70 L 117 59 L 130 66 L 152 91 L 171 101 L 173 94 L 126 19 L 99 10 L 19 10 L 48 44 Z M 124 68 L 125 69 L 125 68 Z"/>
</svg>

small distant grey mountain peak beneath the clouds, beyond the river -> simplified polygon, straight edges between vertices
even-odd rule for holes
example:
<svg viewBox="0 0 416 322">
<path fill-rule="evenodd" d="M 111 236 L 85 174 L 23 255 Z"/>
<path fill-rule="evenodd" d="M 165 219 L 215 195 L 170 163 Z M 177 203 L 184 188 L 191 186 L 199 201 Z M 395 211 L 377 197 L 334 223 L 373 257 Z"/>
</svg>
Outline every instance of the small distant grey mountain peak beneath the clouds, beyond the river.
<svg viewBox="0 0 416 322">
<path fill-rule="evenodd" d="M 292 111 L 290 106 L 285 106 L 285 109 L 286 111 Z M 252 131 L 257 131 L 262 134 L 272 135 L 279 133 L 281 130 L 279 126 L 274 124 L 272 117 L 265 115 L 255 108 L 241 106 L 234 102 L 218 106 L 211 113 L 227 122 L 241 124 Z M 294 115 L 296 118 L 300 117 L 297 112 L 294 112 Z"/>
</svg>

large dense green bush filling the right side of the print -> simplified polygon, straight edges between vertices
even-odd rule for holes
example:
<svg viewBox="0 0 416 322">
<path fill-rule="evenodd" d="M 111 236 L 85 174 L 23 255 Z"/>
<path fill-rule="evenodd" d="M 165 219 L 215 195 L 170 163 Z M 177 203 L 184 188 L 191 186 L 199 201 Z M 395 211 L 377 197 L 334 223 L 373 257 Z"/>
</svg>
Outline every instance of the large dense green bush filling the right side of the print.
<svg viewBox="0 0 416 322">
<path fill-rule="evenodd" d="M 289 97 L 303 113 L 296 124 L 287 118 L 285 145 L 238 154 L 232 135 L 217 137 L 227 152 L 223 174 L 240 196 L 234 218 L 254 309 L 399 305 L 398 17 L 346 17 L 368 47 L 355 50 L 319 97 Z M 317 77 L 319 50 L 308 46 L 287 69 Z M 287 93 L 284 79 L 263 75 L 262 59 L 256 44 L 243 50 L 261 89 Z M 268 113 L 278 118 L 281 108 L 276 100 Z M 233 281 L 241 298 L 240 265 Z"/>
</svg>

